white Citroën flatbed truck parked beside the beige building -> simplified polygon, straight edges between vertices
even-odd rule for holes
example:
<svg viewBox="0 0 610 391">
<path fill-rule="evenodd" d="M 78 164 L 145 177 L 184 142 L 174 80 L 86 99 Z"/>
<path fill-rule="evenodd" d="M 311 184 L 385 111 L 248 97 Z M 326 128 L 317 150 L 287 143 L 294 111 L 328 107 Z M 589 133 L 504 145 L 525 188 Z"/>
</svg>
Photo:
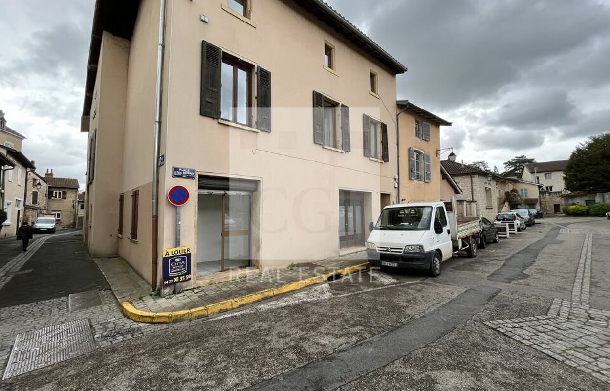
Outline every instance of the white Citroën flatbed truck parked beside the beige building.
<svg viewBox="0 0 610 391">
<path fill-rule="evenodd" d="M 476 256 L 476 237 L 481 223 L 458 222 L 453 203 L 397 204 L 385 207 L 376 224 L 371 223 L 367 257 L 372 266 L 415 268 L 440 274 L 440 264 L 458 251 Z"/>
</svg>

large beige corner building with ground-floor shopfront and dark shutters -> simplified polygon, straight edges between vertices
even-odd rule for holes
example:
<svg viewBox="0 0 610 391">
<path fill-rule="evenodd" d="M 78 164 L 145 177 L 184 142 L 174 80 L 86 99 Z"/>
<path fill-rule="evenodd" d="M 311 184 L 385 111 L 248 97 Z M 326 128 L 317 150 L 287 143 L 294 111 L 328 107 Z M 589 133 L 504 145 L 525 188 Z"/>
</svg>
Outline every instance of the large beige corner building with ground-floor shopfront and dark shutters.
<svg viewBox="0 0 610 391">
<path fill-rule="evenodd" d="M 246 3 L 167 1 L 155 232 L 160 2 L 99 2 L 82 126 L 84 237 L 93 256 L 118 254 L 153 286 L 162 249 L 176 245 L 174 185 L 190 193 L 187 288 L 361 249 L 368 223 L 398 196 L 404 66 L 321 1 Z M 104 26 L 104 12 L 133 28 Z"/>
</svg>

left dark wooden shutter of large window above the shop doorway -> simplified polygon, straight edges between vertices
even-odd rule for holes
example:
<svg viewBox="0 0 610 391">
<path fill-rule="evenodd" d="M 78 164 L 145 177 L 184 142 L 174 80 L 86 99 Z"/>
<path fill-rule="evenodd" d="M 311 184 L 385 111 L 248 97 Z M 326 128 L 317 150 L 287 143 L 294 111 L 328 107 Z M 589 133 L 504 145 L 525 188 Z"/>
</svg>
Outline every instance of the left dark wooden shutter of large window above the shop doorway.
<svg viewBox="0 0 610 391">
<path fill-rule="evenodd" d="M 201 41 L 201 107 L 199 113 L 220 118 L 221 51 L 209 42 Z"/>
</svg>

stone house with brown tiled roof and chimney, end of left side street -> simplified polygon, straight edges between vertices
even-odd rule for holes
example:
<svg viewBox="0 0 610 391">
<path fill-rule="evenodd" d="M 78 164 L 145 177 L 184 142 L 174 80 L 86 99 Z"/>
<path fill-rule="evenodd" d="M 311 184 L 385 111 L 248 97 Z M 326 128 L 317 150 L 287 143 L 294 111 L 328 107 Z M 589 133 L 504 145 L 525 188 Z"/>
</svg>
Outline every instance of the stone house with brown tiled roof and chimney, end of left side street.
<svg viewBox="0 0 610 391">
<path fill-rule="evenodd" d="M 78 179 L 55 178 L 53 170 L 46 170 L 45 181 L 49 185 L 48 213 L 55 216 L 60 228 L 76 226 L 76 208 L 78 199 Z"/>
</svg>

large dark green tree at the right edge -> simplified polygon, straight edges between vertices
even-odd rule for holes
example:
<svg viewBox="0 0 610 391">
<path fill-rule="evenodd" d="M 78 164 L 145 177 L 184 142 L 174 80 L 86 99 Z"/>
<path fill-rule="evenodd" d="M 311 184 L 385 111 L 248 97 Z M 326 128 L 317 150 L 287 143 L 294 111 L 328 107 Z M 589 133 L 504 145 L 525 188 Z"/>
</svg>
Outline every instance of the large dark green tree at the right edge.
<svg viewBox="0 0 610 391">
<path fill-rule="evenodd" d="M 610 192 L 610 133 L 589 137 L 577 146 L 564 170 L 570 192 Z"/>
</svg>

